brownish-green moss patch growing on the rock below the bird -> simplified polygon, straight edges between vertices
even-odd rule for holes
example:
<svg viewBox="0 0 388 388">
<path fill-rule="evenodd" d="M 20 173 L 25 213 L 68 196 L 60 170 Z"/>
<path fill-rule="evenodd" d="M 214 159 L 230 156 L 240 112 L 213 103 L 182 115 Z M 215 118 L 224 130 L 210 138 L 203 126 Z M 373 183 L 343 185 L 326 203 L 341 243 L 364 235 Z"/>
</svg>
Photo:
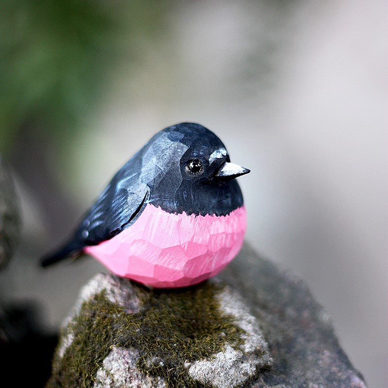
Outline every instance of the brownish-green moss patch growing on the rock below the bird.
<svg viewBox="0 0 388 388">
<path fill-rule="evenodd" d="M 226 343 L 242 343 L 242 329 L 232 316 L 221 314 L 214 284 L 171 291 L 134 287 L 143 304 L 135 314 L 110 303 L 104 292 L 83 303 L 67 328 L 73 342 L 61 359 L 54 358 L 48 388 L 93 387 L 113 346 L 139 350 L 139 370 L 163 377 L 167 387 L 205 387 L 189 376 L 184 363 L 218 353 Z"/>
</svg>

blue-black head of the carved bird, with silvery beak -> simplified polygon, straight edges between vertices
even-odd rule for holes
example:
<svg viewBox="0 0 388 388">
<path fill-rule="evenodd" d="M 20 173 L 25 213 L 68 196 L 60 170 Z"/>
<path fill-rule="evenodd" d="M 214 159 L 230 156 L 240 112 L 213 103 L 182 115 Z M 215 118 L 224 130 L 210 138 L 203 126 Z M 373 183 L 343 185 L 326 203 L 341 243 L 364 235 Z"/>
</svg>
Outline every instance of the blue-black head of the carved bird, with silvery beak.
<svg viewBox="0 0 388 388">
<path fill-rule="evenodd" d="M 163 129 L 147 143 L 142 159 L 147 202 L 163 210 L 226 215 L 243 205 L 234 178 L 249 170 L 230 163 L 221 140 L 199 124 Z"/>
</svg>

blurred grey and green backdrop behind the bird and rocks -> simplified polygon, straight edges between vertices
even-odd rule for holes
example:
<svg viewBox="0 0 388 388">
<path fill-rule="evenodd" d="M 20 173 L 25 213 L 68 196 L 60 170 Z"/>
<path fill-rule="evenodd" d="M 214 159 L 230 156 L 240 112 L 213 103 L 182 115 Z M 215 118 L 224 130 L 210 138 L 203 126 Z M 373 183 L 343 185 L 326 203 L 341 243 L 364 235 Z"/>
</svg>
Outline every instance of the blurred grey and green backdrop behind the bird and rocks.
<svg viewBox="0 0 388 388">
<path fill-rule="evenodd" d="M 43 270 L 114 172 L 195 121 L 250 168 L 246 240 L 309 285 L 370 388 L 388 372 L 386 1 L 3 1 L 0 150 L 21 199 L 5 302 L 56 330 L 97 261 Z"/>
</svg>

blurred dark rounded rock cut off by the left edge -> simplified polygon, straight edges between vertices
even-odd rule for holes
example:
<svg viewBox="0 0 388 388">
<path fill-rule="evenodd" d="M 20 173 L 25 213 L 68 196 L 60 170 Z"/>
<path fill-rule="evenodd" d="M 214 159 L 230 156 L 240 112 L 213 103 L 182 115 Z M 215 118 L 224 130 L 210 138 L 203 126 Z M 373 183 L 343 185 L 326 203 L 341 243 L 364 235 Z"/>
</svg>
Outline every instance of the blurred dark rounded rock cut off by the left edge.
<svg viewBox="0 0 388 388">
<path fill-rule="evenodd" d="M 19 202 L 11 172 L 0 155 L 0 268 L 13 255 L 19 232 Z"/>
</svg>

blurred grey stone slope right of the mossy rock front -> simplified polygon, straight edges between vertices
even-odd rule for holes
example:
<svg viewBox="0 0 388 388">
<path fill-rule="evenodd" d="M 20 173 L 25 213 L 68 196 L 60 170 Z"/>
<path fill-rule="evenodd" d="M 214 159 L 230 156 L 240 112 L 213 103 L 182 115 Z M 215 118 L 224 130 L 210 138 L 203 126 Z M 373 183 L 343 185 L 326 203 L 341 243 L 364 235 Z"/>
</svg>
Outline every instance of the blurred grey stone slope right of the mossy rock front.
<svg viewBox="0 0 388 388">
<path fill-rule="evenodd" d="M 303 281 L 279 272 L 247 244 L 219 278 L 245 298 L 274 360 L 249 387 L 366 388 Z"/>
</svg>

